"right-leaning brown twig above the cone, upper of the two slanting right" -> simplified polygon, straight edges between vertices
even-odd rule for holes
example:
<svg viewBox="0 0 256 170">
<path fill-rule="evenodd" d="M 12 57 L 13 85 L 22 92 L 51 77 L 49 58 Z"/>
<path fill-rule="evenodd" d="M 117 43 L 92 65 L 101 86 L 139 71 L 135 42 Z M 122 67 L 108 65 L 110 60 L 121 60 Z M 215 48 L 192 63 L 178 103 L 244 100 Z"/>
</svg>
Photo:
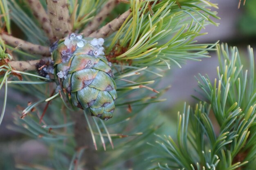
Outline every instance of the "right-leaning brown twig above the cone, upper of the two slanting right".
<svg viewBox="0 0 256 170">
<path fill-rule="evenodd" d="M 87 37 L 88 35 L 93 33 L 106 19 L 109 13 L 115 8 L 118 2 L 118 0 L 108 0 L 108 2 L 101 9 L 101 11 L 93 18 L 91 22 L 89 22 L 88 26 L 86 26 L 86 28 L 82 31 L 83 35 Z"/>
</svg>

